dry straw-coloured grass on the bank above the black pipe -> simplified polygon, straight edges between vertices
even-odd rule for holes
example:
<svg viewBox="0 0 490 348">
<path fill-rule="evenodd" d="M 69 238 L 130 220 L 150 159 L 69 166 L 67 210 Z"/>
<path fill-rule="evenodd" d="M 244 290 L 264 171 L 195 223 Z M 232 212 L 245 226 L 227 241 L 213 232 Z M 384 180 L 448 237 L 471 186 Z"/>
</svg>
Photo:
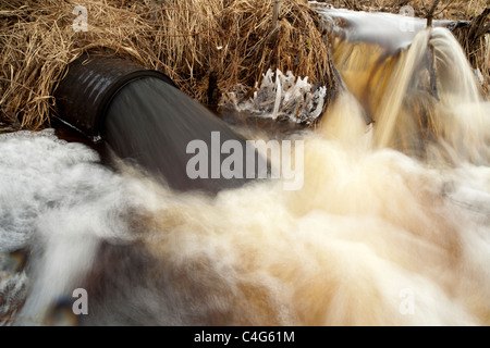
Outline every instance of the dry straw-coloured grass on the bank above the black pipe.
<svg viewBox="0 0 490 348">
<path fill-rule="evenodd" d="M 87 9 L 88 32 L 72 27 L 75 5 Z M 204 103 L 210 76 L 223 94 L 254 86 L 269 67 L 333 88 L 327 42 L 307 2 L 283 0 L 277 32 L 272 7 L 273 0 L 2 3 L 0 114 L 24 128 L 48 125 L 64 67 L 86 51 L 130 57 Z"/>
</svg>

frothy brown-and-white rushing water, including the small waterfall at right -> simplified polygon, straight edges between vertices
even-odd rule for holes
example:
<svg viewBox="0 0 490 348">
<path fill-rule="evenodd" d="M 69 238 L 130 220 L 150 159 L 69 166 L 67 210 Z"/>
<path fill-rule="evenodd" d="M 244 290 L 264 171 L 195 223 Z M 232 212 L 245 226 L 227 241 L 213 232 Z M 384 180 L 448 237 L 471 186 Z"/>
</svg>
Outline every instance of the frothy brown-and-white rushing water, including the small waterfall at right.
<svg viewBox="0 0 490 348">
<path fill-rule="evenodd" d="M 289 135 L 298 190 L 183 192 L 49 129 L 1 135 L 3 323 L 489 325 L 489 103 L 450 32 L 411 42 L 335 41 L 345 90 Z"/>
</svg>

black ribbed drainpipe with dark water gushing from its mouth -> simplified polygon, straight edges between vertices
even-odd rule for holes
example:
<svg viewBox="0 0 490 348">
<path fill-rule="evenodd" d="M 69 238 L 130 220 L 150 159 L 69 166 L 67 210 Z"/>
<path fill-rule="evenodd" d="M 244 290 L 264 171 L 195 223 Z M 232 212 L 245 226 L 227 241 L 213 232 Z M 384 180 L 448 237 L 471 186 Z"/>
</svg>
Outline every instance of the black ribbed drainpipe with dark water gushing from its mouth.
<svg viewBox="0 0 490 348">
<path fill-rule="evenodd" d="M 134 126 L 139 122 L 139 115 L 134 115 L 138 120 L 133 117 L 127 121 L 130 128 L 122 135 L 123 138 L 114 138 L 112 129 L 105 129 L 107 121 L 110 120 L 108 115 L 112 110 L 111 101 L 119 92 L 122 95 L 124 92 L 122 89 L 130 83 L 148 77 L 169 85 L 169 96 L 173 96 L 169 97 L 171 100 L 166 98 L 161 101 L 151 100 L 166 105 L 159 124 L 147 125 L 147 136 L 145 134 L 133 136 L 131 125 Z M 163 178 L 164 183 L 174 189 L 184 191 L 197 189 L 216 194 L 221 189 L 236 188 L 249 182 L 250 179 L 245 177 L 191 179 L 186 175 L 186 161 L 189 154 L 186 153 L 185 145 L 194 138 L 204 140 L 211 148 L 211 133 L 219 132 L 222 141 L 234 139 L 244 148 L 247 145 L 246 139 L 234 133 L 224 121 L 174 87 L 167 75 L 131 60 L 84 54 L 69 64 L 65 76 L 53 94 L 57 101 L 56 116 L 84 134 L 94 144 L 102 144 L 120 158 L 133 160 L 156 177 Z M 181 102 L 182 104 L 179 104 Z M 142 109 L 144 107 L 142 105 Z M 145 119 L 144 114 L 142 116 Z M 246 165 L 245 162 L 243 164 Z M 256 167 L 253 170 L 256 171 Z"/>
</svg>

